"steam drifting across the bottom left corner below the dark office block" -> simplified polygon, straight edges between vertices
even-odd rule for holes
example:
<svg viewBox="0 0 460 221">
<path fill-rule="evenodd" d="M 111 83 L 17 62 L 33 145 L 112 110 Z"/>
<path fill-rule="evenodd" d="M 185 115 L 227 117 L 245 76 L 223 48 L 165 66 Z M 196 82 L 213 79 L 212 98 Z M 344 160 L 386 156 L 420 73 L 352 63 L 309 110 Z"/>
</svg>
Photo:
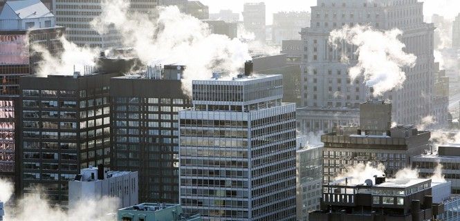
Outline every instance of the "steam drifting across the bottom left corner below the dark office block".
<svg viewBox="0 0 460 221">
<path fill-rule="evenodd" d="M 4 188 L 5 186 L 10 186 Z M 27 195 L 19 200 L 16 209 L 6 206 L 5 220 L 8 221 L 80 221 L 80 220 L 115 220 L 119 201 L 117 198 L 102 198 L 98 200 L 84 199 L 75 208 L 64 211 L 51 205 L 47 200 L 39 197 L 39 189 L 33 195 Z M 7 202 L 12 195 L 12 184 L 0 180 L 0 200 Z M 112 215 L 111 215 L 112 214 Z"/>
</svg>

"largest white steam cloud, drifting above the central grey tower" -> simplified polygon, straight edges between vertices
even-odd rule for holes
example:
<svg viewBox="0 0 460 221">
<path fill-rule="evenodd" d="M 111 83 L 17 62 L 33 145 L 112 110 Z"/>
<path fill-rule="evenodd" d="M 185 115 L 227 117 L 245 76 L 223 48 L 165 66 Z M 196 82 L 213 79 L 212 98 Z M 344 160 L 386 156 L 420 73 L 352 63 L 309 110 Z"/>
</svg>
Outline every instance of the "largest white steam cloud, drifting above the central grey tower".
<svg viewBox="0 0 460 221">
<path fill-rule="evenodd" d="M 248 46 L 238 39 L 210 33 L 208 25 L 182 14 L 176 6 L 158 7 L 158 17 L 131 14 L 129 2 L 102 1 L 102 14 L 93 21 L 98 32 L 113 27 L 125 46 L 144 64 L 183 64 L 183 89 L 191 93 L 193 79 L 205 79 L 213 70 L 237 74 L 244 61 L 251 59 Z"/>
</svg>

